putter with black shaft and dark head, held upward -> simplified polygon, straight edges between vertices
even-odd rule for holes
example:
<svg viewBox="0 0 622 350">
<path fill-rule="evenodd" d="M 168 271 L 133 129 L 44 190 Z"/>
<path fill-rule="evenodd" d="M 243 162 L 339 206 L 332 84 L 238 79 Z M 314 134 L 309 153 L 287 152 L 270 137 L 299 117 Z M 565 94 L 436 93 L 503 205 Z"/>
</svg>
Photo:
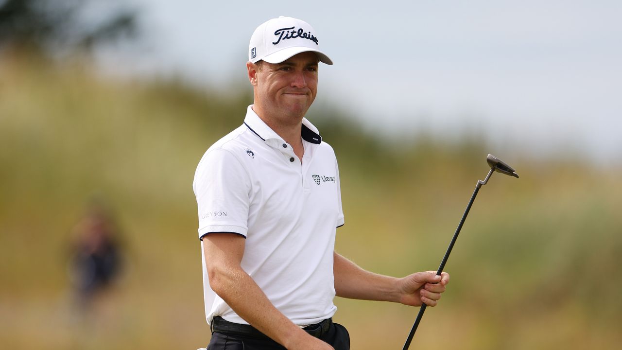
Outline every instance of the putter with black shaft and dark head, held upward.
<svg viewBox="0 0 622 350">
<path fill-rule="evenodd" d="M 458 228 L 456 229 L 455 234 L 453 234 L 452 242 L 449 244 L 449 247 L 447 247 L 447 252 L 445 252 L 445 256 L 443 257 L 442 262 L 440 262 L 439 270 L 436 273 L 439 276 L 440 276 L 440 273 L 443 272 L 443 268 L 445 268 L 445 263 L 447 263 L 449 254 L 452 252 L 453 245 L 456 243 L 456 240 L 458 239 L 458 234 L 460 233 L 460 229 L 462 229 L 462 225 L 465 223 L 466 215 L 468 215 L 468 211 L 471 209 L 471 206 L 473 205 L 473 201 L 475 201 L 475 196 L 477 196 L 477 192 L 480 191 L 481 186 L 484 186 L 486 183 L 488 183 L 490 176 L 495 171 L 501 174 L 514 176 L 518 179 L 518 174 L 516 174 L 516 171 L 514 171 L 514 169 L 511 166 L 501 161 L 501 159 L 496 158 L 492 154 L 488 154 L 488 157 L 486 158 L 486 162 L 488 162 L 488 165 L 490 166 L 490 171 L 488 171 L 488 175 L 486 176 L 486 179 L 484 179 L 484 181 L 478 180 L 477 184 L 475 185 L 475 192 L 473 192 L 473 196 L 471 196 L 471 200 L 468 202 L 468 206 L 466 206 L 465 213 L 462 214 L 462 219 L 460 219 L 460 224 L 458 224 Z M 412 325 L 411 333 L 408 334 L 408 338 L 406 339 L 406 344 L 404 344 L 404 348 L 402 350 L 407 350 L 409 346 L 411 346 L 412 337 L 415 335 L 415 331 L 417 331 L 417 327 L 419 326 L 419 322 L 421 321 L 421 318 L 424 316 L 426 307 L 427 305 L 425 304 L 421 305 L 421 308 L 419 309 L 419 314 L 417 315 L 417 319 L 415 319 L 415 323 Z"/>
</svg>

